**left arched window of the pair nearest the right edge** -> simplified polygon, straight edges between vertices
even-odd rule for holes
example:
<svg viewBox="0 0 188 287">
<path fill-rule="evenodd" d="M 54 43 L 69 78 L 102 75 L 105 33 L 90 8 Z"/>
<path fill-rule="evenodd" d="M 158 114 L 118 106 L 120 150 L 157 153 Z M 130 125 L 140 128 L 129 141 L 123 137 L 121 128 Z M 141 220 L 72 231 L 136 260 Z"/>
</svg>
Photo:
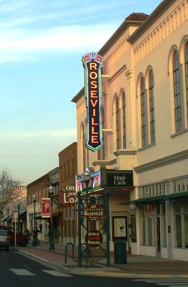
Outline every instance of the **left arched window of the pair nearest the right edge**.
<svg viewBox="0 0 188 287">
<path fill-rule="evenodd" d="M 181 118 L 181 97 L 180 97 L 180 79 L 179 79 L 179 59 L 175 51 L 173 56 L 173 93 L 174 93 L 174 114 L 175 114 L 175 132 L 180 131 L 182 126 Z"/>
</svg>

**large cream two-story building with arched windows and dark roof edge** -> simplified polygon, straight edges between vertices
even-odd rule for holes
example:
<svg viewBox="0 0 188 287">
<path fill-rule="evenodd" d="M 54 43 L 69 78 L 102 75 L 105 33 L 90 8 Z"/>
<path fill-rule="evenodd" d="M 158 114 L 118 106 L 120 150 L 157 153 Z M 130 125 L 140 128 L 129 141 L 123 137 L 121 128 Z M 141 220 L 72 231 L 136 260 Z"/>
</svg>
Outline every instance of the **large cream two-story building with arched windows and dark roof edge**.
<svg viewBox="0 0 188 287">
<path fill-rule="evenodd" d="M 85 148 L 83 88 L 72 99 L 78 174 L 86 166 L 133 170 L 131 191 L 110 190 L 110 225 L 113 212 L 125 212 L 133 254 L 187 261 L 188 0 L 164 0 L 150 16 L 131 14 L 98 54 L 103 147 Z"/>
</svg>

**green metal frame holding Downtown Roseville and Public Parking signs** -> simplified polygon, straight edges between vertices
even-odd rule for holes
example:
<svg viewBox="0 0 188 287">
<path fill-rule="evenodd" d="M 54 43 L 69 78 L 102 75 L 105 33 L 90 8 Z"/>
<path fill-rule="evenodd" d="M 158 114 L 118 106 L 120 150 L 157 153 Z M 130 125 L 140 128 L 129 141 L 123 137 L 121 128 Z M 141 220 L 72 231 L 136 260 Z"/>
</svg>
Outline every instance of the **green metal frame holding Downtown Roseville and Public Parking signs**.
<svg viewBox="0 0 188 287">
<path fill-rule="evenodd" d="M 82 258 L 96 257 L 95 248 L 99 247 L 103 253 L 100 257 L 106 257 L 106 265 L 110 266 L 110 236 L 109 236 L 109 192 L 105 191 L 104 196 L 97 195 L 95 203 L 87 202 L 87 197 L 82 196 L 78 191 L 78 266 L 82 267 Z M 102 205 L 102 206 L 101 206 Z M 96 222 L 102 219 L 99 229 L 90 229 L 89 222 Z M 84 228 L 83 228 L 84 227 Z M 82 233 L 85 233 L 85 249 L 82 250 Z M 106 245 L 102 246 L 103 236 L 106 238 Z"/>
</svg>

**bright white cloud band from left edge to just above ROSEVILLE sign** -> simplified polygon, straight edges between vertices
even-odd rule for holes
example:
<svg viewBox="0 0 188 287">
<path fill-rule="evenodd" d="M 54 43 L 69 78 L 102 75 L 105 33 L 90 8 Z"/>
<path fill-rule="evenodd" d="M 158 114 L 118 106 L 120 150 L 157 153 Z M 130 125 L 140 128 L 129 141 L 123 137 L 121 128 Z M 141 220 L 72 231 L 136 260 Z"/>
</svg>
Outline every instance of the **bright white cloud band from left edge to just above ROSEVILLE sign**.
<svg viewBox="0 0 188 287">
<path fill-rule="evenodd" d="M 69 25 L 45 30 L 1 31 L 0 62 L 39 60 L 45 52 L 65 53 L 99 49 L 115 30 L 114 25 Z"/>
</svg>

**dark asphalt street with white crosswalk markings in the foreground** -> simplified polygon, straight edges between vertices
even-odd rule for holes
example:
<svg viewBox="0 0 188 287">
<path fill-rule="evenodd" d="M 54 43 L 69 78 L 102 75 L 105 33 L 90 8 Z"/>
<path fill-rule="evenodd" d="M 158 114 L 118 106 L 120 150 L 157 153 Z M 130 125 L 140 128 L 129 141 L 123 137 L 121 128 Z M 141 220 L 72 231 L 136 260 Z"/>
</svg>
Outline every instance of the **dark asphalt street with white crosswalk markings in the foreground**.
<svg viewBox="0 0 188 287">
<path fill-rule="evenodd" d="M 120 274 L 119 274 L 120 276 Z M 188 279 L 135 279 L 116 277 L 97 277 L 68 274 L 68 272 L 54 270 L 30 258 L 20 255 L 12 250 L 0 249 L 0 281 L 1 287 L 156 287 L 157 285 L 169 287 L 188 287 Z"/>
</svg>

